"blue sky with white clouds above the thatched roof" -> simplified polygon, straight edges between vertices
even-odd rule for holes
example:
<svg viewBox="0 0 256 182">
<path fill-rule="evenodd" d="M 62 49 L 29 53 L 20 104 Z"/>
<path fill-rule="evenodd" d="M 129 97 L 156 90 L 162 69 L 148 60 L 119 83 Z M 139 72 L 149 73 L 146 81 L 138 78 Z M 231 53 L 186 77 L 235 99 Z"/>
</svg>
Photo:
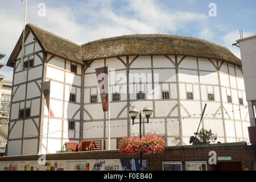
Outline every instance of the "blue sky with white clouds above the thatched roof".
<svg viewBox="0 0 256 182">
<path fill-rule="evenodd" d="M 24 5 L 25 0 L 1 0 L 0 53 L 6 56 L 0 63 L 6 64 L 22 34 Z M 77 44 L 130 34 L 171 34 L 208 40 L 240 58 L 240 49 L 232 44 L 240 39 L 240 29 L 244 38 L 256 35 L 256 1 L 27 0 L 26 22 Z M 3 67 L 0 75 L 12 81 L 13 68 Z"/>
</svg>

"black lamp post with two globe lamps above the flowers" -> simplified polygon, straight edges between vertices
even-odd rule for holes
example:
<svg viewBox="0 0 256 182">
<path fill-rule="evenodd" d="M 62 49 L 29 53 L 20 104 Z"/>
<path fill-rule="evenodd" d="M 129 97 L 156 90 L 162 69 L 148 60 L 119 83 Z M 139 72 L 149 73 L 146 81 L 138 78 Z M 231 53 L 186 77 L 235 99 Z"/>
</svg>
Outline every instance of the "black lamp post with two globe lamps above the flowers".
<svg viewBox="0 0 256 182">
<path fill-rule="evenodd" d="M 141 111 L 138 112 L 134 106 L 131 107 L 131 109 L 129 110 L 129 115 L 130 115 L 131 119 L 133 119 L 133 125 L 139 124 L 139 138 L 142 137 L 141 125 L 142 125 L 142 123 L 148 123 L 148 118 L 150 118 L 150 115 L 152 114 L 152 112 L 153 112 L 153 110 L 151 109 L 151 107 L 149 107 L 149 106 L 144 107 L 142 110 L 142 113 L 147 118 L 147 122 L 142 122 Z M 139 123 L 134 123 L 134 119 L 137 117 L 138 113 L 139 113 Z M 141 156 L 140 163 L 141 163 L 141 168 L 142 168 L 142 152 L 141 152 L 140 156 Z"/>
</svg>

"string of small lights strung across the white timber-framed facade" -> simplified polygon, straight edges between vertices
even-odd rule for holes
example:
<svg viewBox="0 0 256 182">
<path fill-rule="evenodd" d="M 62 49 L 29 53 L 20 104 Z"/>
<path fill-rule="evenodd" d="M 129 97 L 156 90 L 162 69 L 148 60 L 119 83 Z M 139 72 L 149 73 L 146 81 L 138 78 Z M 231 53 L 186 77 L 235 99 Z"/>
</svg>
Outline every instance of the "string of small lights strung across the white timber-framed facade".
<svg viewBox="0 0 256 182">
<path fill-rule="evenodd" d="M 242 109 L 247 109 L 247 107 L 249 107 L 249 106 L 245 106 L 245 107 L 242 107 L 242 108 L 240 108 L 240 109 L 237 109 L 237 110 L 230 110 L 230 111 L 225 111 L 225 112 L 222 112 L 222 113 L 208 113 L 208 114 L 205 114 L 206 116 L 208 116 L 208 115 L 212 115 L 212 116 L 214 116 L 214 115 L 220 115 L 220 114 L 228 114 L 228 113 L 230 113 L 230 112 L 234 112 L 234 111 L 240 111 L 240 110 L 242 110 Z M 181 120 L 184 120 L 185 118 L 191 118 L 191 117 L 195 117 L 196 115 L 198 115 L 199 117 L 201 117 L 201 114 L 191 114 L 191 115 L 188 115 L 187 117 L 182 117 L 181 118 Z M 174 122 L 174 121 L 179 121 L 179 119 L 172 119 L 172 120 L 167 120 L 166 122 Z M 164 123 L 165 121 L 160 121 L 160 123 Z M 156 121 L 156 122 L 152 122 L 152 121 L 150 121 L 149 123 L 159 123 L 159 121 Z M 112 125 L 112 126 L 110 126 L 110 127 L 125 127 L 125 126 L 129 126 L 129 125 Z M 88 130 L 91 130 L 91 129 L 93 129 L 93 128 L 106 128 L 106 127 L 108 127 L 108 126 L 91 126 L 91 127 L 88 127 L 88 128 L 86 128 L 86 129 L 83 129 L 83 130 L 81 130 L 81 131 L 88 131 Z M 49 134 L 56 134 L 56 133 L 77 133 L 77 132 L 80 132 L 80 130 L 69 130 L 69 131 L 60 131 L 60 130 L 57 130 L 57 131 L 52 131 L 52 132 L 50 132 Z M 27 137 L 47 137 L 47 134 L 40 134 L 40 135 L 32 135 L 32 134 L 29 134 L 29 135 L 27 135 Z"/>
</svg>

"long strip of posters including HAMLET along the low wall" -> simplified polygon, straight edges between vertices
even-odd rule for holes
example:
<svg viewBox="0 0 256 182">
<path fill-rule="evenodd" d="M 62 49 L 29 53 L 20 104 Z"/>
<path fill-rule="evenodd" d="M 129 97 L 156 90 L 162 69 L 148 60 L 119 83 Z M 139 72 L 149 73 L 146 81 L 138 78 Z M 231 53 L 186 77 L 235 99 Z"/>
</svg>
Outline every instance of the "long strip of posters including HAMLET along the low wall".
<svg viewBox="0 0 256 182">
<path fill-rule="evenodd" d="M 0 171 L 139 171 L 139 159 L 89 159 L 89 160 L 37 160 L 0 162 Z M 142 159 L 142 171 L 148 170 L 147 159 Z"/>
</svg>

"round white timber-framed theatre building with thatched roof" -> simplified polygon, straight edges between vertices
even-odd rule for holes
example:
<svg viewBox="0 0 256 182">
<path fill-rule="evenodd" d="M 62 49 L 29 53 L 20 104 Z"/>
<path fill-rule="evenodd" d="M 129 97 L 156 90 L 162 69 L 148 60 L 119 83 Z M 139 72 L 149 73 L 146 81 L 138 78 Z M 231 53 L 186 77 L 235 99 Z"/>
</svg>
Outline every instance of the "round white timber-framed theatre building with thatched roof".
<svg viewBox="0 0 256 182">
<path fill-rule="evenodd" d="M 205 104 L 200 128 L 211 129 L 222 143 L 249 142 L 241 60 L 225 47 L 159 34 L 77 45 L 32 24 L 25 34 L 26 69 L 20 68 L 22 35 L 7 62 L 14 68 L 7 155 L 46 153 L 47 142 L 49 153 L 55 153 L 67 141 L 90 139 L 104 139 L 108 148 L 108 117 L 95 73 L 108 64 L 112 149 L 119 138 L 138 135 L 128 114 L 134 105 L 153 109 L 142 131 L 164 137 L 167 146 L 189 144 Z M 48 80 L 54 113 L 49 125 L 40 89 Z"/>
</svg>

